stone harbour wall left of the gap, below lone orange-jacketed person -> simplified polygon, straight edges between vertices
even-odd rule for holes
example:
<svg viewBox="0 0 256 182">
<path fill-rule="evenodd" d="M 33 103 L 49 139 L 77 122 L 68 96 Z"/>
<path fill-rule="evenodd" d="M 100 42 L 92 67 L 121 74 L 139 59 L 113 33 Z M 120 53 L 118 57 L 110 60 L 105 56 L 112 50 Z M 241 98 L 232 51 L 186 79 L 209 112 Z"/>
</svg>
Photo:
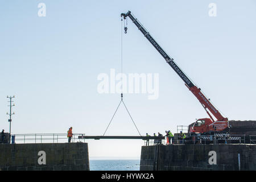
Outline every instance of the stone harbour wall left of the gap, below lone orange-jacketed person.
<svg viewBox="0 0 256 182">
<path fill-rule="evenodd" d="M 2 171 L 87 171 L 88 143 L 0 144 Z"/>
</svg>

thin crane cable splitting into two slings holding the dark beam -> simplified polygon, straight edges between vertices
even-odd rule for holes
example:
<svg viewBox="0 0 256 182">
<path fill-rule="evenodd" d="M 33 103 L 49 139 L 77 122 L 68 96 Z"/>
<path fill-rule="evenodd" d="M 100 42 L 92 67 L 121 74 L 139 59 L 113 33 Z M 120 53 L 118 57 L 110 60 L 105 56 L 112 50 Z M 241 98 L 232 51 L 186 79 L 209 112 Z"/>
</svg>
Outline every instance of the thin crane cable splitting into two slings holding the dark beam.
<svg viewBox="0 0 256 182">
<path fill-rule="evenodd" d="M 131 117 L 131 114 L 130 114 L 129 110 L 128 110 L 127 107 L 126 107 L 125 102 L 123 102 L 123 25 L 122 25 L 122 21 L 123 21 L 123 18 L 121 19 L 121 73 L 122 73 L 122 77 L 121 77 L 121 78 L 122 78 L 121 101 L 119 102 L 119 104 L 118 104 L 118 106 L 117 106 L 117 109 L 115 109 L 115 112 L 114 112 L 112 118 L 110 119 L 109 125 L 110 125 L 110 123 L 112 122 L 112 120 L 113 120 L 113 118 L 114 118 L 114 116 L 115 116 L 115 113 L 117 113 L 117 110 L 118 110 L 118 108 L 119 108 L 119 106 L 120 106 L 120 104 L 121 104 L 121 102 L 122 102 L 123 105 L 125 106 L 125 109 L 126 109 L 127 113 L 129 114 L 129 116 L 130 116 L 130 118 L 131 118 L 131 121 L 133 121 L 133 124 L 134 124 L 134 126 L 136 127 L 136 129 L 137 129 L 137 131 L 138 131 L 138 133 L 139 133 L 138 127 L 135 125 L 135 122 L 134 122 L 133 118 Z M 125 20 L 123 21 L 123 24 L 124 24 L 124 27 L 125 27 L 125 34 L 126 34 L 126 31 L 127 31 L 127 19 L 126 19 L 126 26 L 125 26 Z M 106 130 L 105 130 L 103 136 L 105 135 L 106 131 L 108 130 L 109 125 L 108 125 L 108 127 L 106 128 Z M 141 136 L 141 133 L 139 133 L 139 135 Z"/>
</svg>

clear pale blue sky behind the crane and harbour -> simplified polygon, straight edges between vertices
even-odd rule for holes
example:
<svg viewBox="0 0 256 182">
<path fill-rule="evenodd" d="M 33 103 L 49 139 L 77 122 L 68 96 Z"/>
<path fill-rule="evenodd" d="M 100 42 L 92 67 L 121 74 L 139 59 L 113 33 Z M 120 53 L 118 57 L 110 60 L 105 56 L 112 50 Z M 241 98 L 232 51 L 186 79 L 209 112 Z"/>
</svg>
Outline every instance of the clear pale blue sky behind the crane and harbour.
<svg viewBox="0 0 256 182">
<path fill-rule="evenodd" d="M 46 16 L 39 16 L 46 5 Z M 210 3 L 216 16 L 210 16 Z M 121 73 L 121 13 L 130 10 L 229 120 L 255 120 L 256 2 L 0 1 L 0 127 L 12 134 L 102 135 L 121 99 L 99 93 L 102 73 Z M 41 11 L 40 11 L 41 12 Z M 159 97 L 123 100 L 139 132 L 177 132 L 208 117 L 195 96 L 128 19 L 123 73 L 159 75 Z M 105 135 L 138 135 L 121 105 Z M 86 140 L 90 158 L 139 159 L 142 140 Z"/>
</svg>

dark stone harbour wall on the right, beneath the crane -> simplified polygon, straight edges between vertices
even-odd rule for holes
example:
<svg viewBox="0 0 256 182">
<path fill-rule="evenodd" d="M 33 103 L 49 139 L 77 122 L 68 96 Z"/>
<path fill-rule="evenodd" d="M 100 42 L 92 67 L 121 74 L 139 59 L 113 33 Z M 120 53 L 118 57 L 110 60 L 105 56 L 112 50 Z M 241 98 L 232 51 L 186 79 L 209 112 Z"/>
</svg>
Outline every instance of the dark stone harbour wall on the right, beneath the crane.
<svg viewBox="0 0 256 182">
<path fill-rule="evenodd" d="M 142 146 L 140 170 L 256 170 L 256 145 L 174 144 Z"/>
</svg>

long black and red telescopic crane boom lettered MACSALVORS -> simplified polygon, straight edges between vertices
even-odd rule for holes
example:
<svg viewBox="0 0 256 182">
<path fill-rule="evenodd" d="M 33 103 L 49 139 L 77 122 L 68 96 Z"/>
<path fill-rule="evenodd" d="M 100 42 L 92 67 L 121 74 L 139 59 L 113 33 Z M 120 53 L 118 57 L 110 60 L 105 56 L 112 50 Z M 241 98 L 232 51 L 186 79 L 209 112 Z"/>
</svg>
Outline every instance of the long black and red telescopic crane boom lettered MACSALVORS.
<svg viewBox="0 0 256 182">
<path fill-rule="evenodd" d="M 207 114 L 209 115 L 210 119 L 212 119 L 212 122 L 214 122 L 214 119 L 212 118 L 212 113 L 214 117 L 217 119 L 217 121 L 228 121 L 228 118 L 225 118 L 221 115 L 221 113 L 210 103 L 210 101 L 204 96 L 204 94 L 200 91 L 200 88 L 197 88 L 193 84 L 193 82 L 188 78 L 188 76 L 185 75 L 185 73 L 177 66 L 174 59 L 170 57 L 161 46 L 155 41 L 154 38 L 149 34 L 149 32 L 142 26 L 142 24 L 135 18 L 131 11 L 128 11 L 128 13 L 122 13 L 121 16 L 126 19 L 127 16 L 133 21 L 133 23 L 138 27 L 138 29 L 142 32 L 142 34 L 146 37 L 146 39 L 152 44 L 152 46 L 155 47 L 155 49 L 160 53 L 161 56 L 166 60 L 166 62 L 171 66 L 172 69 L 179 75 L 179 77 L 185 82 L 185 85 L 188 87 L 188 89 L 196 96 L 196 98 L 199 100 L 201 105 L 204 107 L 204 109 L 207 111 Z M 210 113 L 208 112 L 208 110 Z"/>
</svg>

